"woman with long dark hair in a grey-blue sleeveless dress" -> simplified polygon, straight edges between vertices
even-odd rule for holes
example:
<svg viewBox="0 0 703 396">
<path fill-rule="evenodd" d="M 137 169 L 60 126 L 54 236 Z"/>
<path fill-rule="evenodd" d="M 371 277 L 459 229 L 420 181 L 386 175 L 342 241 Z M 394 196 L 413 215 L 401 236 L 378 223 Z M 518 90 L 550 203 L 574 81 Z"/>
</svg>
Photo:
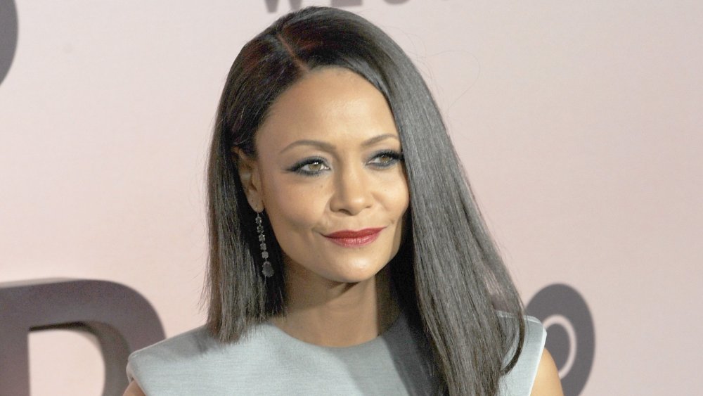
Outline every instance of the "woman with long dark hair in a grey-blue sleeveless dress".
<svg viewBox="0 0 703 396">
<path fill-rule="evenodd" d="M 207 326 L 134 352 L 127 395 L 562 394 L 430 92 L 368 21 L 305 8 L 246 44 L 208 173 Z"/>
</svg>

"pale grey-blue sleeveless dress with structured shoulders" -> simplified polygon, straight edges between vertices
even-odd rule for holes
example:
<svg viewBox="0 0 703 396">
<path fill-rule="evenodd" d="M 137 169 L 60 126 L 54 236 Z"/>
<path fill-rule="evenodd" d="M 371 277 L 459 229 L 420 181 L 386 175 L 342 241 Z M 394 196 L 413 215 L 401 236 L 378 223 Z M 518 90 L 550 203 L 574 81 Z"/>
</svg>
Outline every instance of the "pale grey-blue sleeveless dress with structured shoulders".
<svg viewBox="0 0 703 396">
<path fill-rule="evenodd" d="M 523 352 L 501 378 L 501 396 L 527 396 L 534 382 L 546 332 L 537 319 L 524 320 Z M 437 384 L 431 353 L 404 314 L 377 338 L 352 347 L 305 343 L 273 324 L 225 344 L 199 327 L 133 352 L 127 376 L 149 396 L 430 395 Z"/>
</svg>

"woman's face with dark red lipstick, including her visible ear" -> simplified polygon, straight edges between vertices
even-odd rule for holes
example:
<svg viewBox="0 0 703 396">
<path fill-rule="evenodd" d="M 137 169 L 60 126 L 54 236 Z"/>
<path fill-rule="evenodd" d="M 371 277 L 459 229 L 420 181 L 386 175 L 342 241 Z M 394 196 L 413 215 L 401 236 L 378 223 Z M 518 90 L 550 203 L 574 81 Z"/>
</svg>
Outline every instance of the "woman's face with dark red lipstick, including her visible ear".
<svg viewBox="0 0 703 396">
<path fill-rule="evenodd" d="M 355 283 L 396 255 L 408 183 L 391 111 L 366 79 L 342 68 L 309 73 L 273 103 L 256 147 L 240 174 L 288 272 Z"/>
</svg>

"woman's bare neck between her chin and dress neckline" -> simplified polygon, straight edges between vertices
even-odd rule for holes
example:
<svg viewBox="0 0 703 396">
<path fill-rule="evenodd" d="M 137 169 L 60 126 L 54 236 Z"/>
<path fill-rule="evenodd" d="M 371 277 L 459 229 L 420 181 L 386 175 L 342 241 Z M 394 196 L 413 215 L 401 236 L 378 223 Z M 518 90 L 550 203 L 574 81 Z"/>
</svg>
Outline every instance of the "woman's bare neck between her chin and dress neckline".
<svg viewBox="0 0 703 396">
<path fill-rule="evenodd" d="M 396 320 L 400 309 L 389 268 L 358 283 L 317 281 L 286 272 L 285 314 L 271 322 L 290 336 L 328 347 L 373 340 Z"/>
</svg>

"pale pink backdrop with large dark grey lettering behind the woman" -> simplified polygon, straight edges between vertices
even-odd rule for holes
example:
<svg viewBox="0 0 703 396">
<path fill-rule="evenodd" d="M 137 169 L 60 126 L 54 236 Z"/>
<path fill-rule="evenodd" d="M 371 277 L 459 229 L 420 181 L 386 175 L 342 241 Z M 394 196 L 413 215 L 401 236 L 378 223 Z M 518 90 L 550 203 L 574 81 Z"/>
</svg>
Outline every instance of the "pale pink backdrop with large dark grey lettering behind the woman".
<svg viewBox="0 0 703 396">
<path fill-rule="evenodd" d="M 567 395 L 703 387 L 702 3 L 0 0 L 0 395 L 115 394 L 203 323 L 219 93 L 309 5 L 423 72 Z"/>
</svg>

